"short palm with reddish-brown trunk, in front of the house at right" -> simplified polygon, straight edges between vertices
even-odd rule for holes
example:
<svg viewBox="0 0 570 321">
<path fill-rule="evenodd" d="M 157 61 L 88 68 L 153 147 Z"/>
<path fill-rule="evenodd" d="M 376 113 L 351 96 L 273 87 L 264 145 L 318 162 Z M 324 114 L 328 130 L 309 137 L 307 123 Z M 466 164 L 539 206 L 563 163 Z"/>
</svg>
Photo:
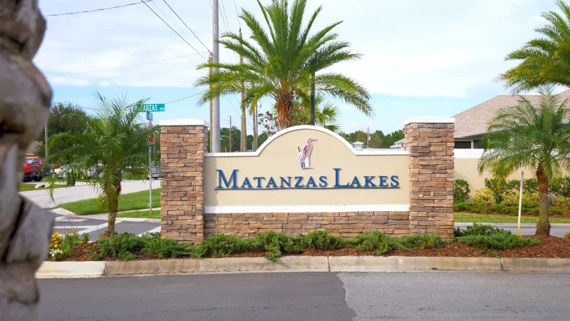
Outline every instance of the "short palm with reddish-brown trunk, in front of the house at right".
<svg viewBox="0 0 570 321">
<path fill-rule="evenodd" d="M 536 235 L 549 235 L 548 185 L 561 170 L 570 170 L 570 125 L 567 101 L 559 101 L 554 86 L 539 88 L 534 106 L 521 97 L 518 106 L 502 108 L 489 121 L 484 136 L 480 173 L 490 169 L 499 180 L 522 168 L 531 168 L 539 182 L 539 221 Z"/>
</svg>

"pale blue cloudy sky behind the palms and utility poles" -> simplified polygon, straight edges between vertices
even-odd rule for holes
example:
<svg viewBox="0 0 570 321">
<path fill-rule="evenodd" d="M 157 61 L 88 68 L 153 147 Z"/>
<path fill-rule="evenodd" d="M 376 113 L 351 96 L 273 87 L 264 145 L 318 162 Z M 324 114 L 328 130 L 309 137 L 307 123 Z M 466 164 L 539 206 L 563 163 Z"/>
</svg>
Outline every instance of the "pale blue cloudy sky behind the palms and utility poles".
<svg viewBox="0 0 570 321">
<path fill-rule="evenodd" d="M 195 67 L 212 49 L 209 0 L 166 0 L 197 37 L 165 1 L 148 3 L 194 49 L 145 4 L 48 16 L 137 1 L 39 1 L 48 29 L 35 62 L 53 87 L 53 100 L 93 108 L 94 91 L 108 97 L 126 94 L 133 101 L 167 103 L 167 111 L 155 113 L 155 120 L 209 119 L 208 106 L 197 106 L 196 97 L 177 101 L 203 90 L 193 83 L 203 73 Z M 219 2 L 222 34 L 239 29 L 237 10 L 261 14 L 254 0 Z M 508 94 L 502 83 L 493 81 L 513 65 L 504 56 L 537 36 L 533 30 L 544 24 L 541 12 L 555 9 L 554 0 L 309 0 L 309 11 L 319 5 L 323 11 L 314 30 L 343 21 L 336 28 L 339 39 L 363 54 L 360 61 L 332 70 L 360 81 L 371 93 L 375 111 L 375 117 L 368 118 L 336 101 L 342 113 L 339 123 L 344 131 L 369 127 L 385 133 L 401 128 L 405 118 L 453 116 Z M 237 61 L 227 49 L 220 51 L 222 61 Z M 269 103 L 264 101 L 262 109 Z M 229 116 L 238 124 L 239 98 L 223 98 L 221 105 L 222 126 Z"/>
</svg>

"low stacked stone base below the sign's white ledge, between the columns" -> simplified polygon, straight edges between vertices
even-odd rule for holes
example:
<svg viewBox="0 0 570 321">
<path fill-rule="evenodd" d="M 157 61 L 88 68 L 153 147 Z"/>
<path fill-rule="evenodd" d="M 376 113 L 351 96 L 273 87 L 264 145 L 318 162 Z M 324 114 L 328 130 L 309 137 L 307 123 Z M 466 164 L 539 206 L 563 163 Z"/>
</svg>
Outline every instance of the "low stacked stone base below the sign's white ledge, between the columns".
<svg viewBox="0 0 570 321">
<path fill-rule="evenodd" d="M 323 230 L 351 238 L 372 231 L 393 236 L 410 234 L 409 212 L 224 213 L 204 214 L 204 235 L 224 233 L 249 238 L 269 230 L 296 235 Z"/>
</svg>

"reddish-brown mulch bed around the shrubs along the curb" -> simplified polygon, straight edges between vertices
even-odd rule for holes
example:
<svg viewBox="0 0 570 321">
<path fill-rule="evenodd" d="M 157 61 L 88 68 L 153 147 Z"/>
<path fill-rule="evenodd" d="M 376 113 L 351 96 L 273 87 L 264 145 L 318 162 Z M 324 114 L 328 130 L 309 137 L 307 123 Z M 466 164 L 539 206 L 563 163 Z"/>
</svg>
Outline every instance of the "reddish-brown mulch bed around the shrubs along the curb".
<svg viewBox="0 0 570 321">
<path fill-rule="evenodd" d="M 497 250 L 499 258 L 570 258 L 570 240 L 565 238 L 556 238 L 555 236 L 532 236 L 537 238 L 541 243 L 525 248 L 517 248 L 512 250 Z M 73 248 L 73 254 L 67 261 L 92 261 L 93 258 L 88 252 L 95 252 L 95 243 L 81 245 Z M 152 260 L 152 256 L 143 253 L 135 253 L 135 260 Z M 304 253 L 284 253 L 284 255 L 300 255 L 300 256 L 363 256 L 375 255 L 373 251 L 359 252 L 353 248 L 344 248 L 342 250 L 306 250 Z M 234 253 L 229 258 L 262 258 L 264 252 Z M 462 243 L 449 243 L 442 245 L 437 250 L 393 250 L 383 256 L 429 256 L 429 257 L 468 257 L 468 258 L 494 258 L 496 255 L 491 251 L 482 252 L 475 248 Z M 190 255 L 179 258 L 192 258 Z M 116 260 L 108 258 L 107 260 Z"/>
</svg>

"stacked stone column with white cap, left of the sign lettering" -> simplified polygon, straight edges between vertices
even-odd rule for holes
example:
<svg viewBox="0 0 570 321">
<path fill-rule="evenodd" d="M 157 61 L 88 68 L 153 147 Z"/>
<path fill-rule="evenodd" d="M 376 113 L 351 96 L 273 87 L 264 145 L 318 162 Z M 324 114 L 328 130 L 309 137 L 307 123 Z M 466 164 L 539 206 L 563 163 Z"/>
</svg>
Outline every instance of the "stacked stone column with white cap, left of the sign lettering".
<svg viewBox="0 0 570 321">
<path fill-rule="evenodd" d="M 161 236 L 196 243 L 204 238 L 204 153 L 209 123 L 160 121 Z"/>
</svg>

